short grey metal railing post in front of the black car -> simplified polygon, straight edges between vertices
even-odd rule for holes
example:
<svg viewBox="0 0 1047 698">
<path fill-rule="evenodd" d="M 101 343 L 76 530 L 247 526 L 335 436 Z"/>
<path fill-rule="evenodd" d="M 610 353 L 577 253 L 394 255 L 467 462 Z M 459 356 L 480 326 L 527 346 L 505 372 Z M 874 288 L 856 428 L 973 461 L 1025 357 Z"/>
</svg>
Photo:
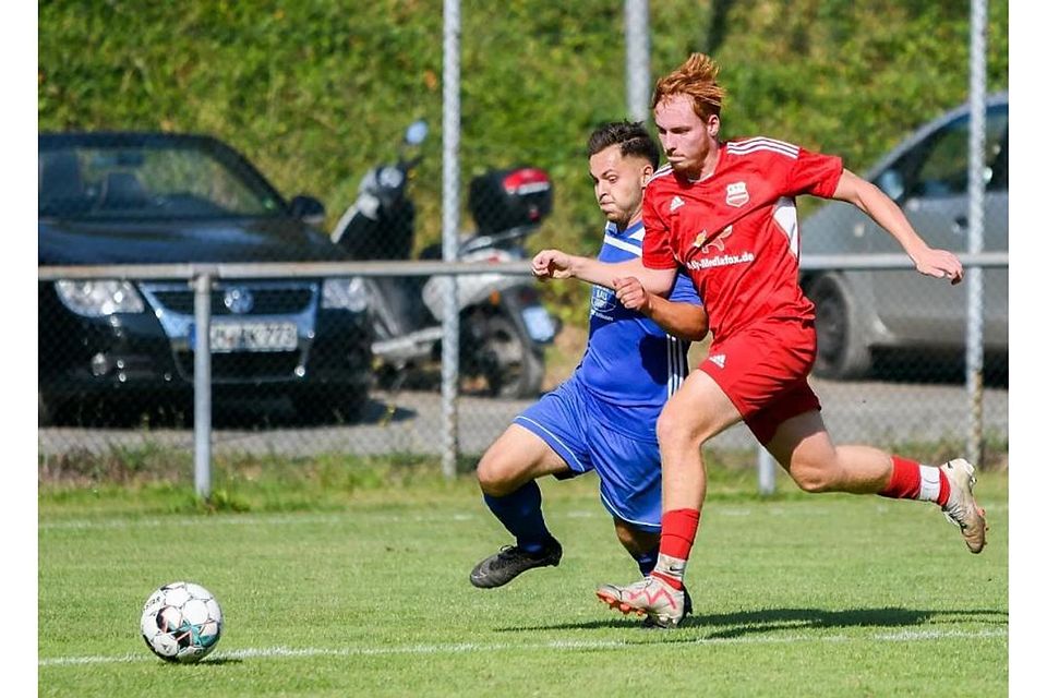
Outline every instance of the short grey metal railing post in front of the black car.
<svg viewBox="0 0 1047 698">
<path fill-rule="evenodd" d="M 194 329 L 193 351 L 193 482 L 196 494 L 210 496 L 210 287 L 209 272 L 192 281 Z"/>
</svg>

